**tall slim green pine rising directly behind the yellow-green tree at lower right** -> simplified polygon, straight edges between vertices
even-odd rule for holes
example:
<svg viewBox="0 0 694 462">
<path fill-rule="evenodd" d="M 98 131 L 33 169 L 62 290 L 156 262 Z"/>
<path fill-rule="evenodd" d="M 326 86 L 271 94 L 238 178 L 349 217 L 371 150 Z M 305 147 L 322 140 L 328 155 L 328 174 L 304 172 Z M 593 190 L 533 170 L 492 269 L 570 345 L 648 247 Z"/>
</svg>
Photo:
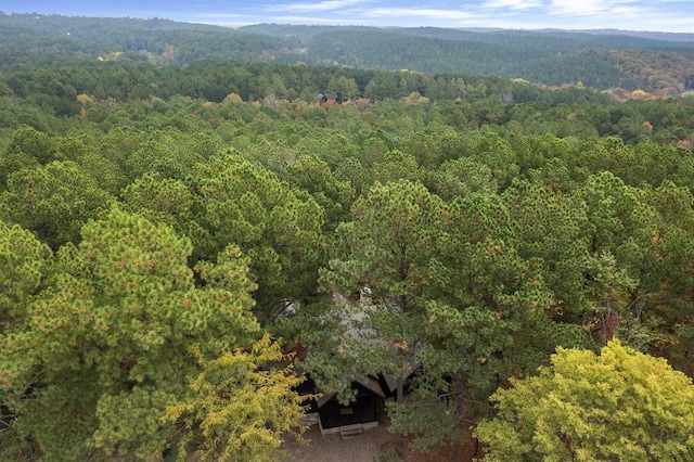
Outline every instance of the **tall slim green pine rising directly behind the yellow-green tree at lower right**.
<svg viewBox="0 0 694 462">
<path fill-rule="evenodd" d="M 586 207 L 586 290 L 593 304 L 591 330 L 601 343 L 619 336 L 647 345 L 644 310 L 661 291 L 657 273 L 659 218 L 644 194 L 608 171 L 590 176 L 575 192 Z M 635 346 L 635 344 L 633 344 Z"/>
</svg>

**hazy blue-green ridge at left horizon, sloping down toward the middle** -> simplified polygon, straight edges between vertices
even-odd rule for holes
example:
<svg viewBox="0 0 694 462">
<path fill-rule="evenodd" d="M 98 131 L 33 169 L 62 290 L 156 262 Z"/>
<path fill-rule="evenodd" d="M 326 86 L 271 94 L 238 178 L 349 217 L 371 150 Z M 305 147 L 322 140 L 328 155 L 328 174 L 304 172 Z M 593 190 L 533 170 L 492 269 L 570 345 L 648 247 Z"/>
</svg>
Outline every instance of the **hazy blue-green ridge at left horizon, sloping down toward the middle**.
<svg viewBox="0 0 694 462">
<path fill-rule="evenodd" d="M 184 64 L 207 57 L 271 61 L 283 47 L 269 36 L 156 17 L 0 13 L 0 53 L 97 59 L 121 52 L 121 59 Z"/>
</svg>

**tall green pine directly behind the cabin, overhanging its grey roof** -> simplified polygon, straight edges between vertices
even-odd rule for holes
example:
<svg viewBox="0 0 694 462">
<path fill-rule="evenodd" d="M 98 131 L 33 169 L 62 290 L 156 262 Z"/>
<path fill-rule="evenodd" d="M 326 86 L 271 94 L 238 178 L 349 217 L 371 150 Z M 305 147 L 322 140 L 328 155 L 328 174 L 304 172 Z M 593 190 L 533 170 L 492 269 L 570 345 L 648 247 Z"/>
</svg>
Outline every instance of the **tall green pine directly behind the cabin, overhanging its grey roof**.
<svg viewBox="0 0 694 462">
<path fill-rule="evenodd" d="M 371 348 L 373 342 L 363 342 L 359 333 L 354 342 L 342 338 L 352 325 L 371 338 L 378 331 L 381 346 L 416 337 L 411 322 L 420 319 L 430 226 L 441 205 L 421 183 L 376 182 L 352 206 L 352 221 L 337 228 L 329 266 L 321 271 L 331 301 L 300 309 L 290 331 L 308 347 L 305 365 L 323 389 L 348 401 L 352 374 L 398 374 L 404 358 L 388 357 L 389 348 Z M 364 287 L 371 303 L 356 303 Z"/>
</svg>

